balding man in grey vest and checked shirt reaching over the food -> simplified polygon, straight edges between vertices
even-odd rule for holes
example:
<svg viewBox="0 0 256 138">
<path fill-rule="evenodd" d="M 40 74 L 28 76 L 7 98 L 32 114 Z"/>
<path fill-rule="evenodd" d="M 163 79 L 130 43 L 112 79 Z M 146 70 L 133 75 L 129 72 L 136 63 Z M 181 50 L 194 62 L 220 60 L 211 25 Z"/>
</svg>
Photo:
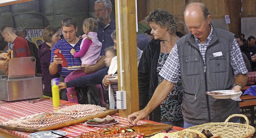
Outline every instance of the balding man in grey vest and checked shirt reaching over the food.
<svg viewBox="0 0 256 138">
<path fill-rule="evenodd" d="M 188 4 L 184 19 L 190 33 L 176 42 L 159 73 L 164 80 L 148 105 L 128 116 L 130 124 L 147 117 L 164 101 L 179 77 L 184 88 L 184 128 L 224 122 L 230 115 L 239 113 L 238 101 L 206 95 L 206 91 L 214 90 L 238 92 L 246 85 L 248 71 L 234 34 L 214 28 L 210 23 L 210 12 L 202 3 Z M 239 118 L 230 121 L 240 122 Z"/>
</svg>

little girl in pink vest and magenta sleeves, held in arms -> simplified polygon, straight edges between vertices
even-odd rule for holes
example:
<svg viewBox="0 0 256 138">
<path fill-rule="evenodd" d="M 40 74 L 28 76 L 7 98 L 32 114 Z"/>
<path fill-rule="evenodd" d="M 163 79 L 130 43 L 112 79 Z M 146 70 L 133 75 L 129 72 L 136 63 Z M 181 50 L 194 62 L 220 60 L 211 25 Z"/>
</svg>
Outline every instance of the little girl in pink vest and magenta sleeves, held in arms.
<svg viewBox="0 0 256 138">
<path fill-rule="evenodd" d="M 84 35 L 82 43 L 80 45 L 80 51 L 76 52 L 74 49 L 71 49 L 70 53 L 74 56 L 74 58 L 80 58 L 83 65 L 93 65 L 100 59 L 100 50 L 102 48 L 102 43 L 98 40 L 97 37 L 97 29 L 98 24 L 94 18 L 88 18 L 84 20 L 83 23 L 83 31 Z M 93 74 L 91 72 L 89 74 Z M 66 78 L 65 82 L 69 82 L 76 78 L 87 76 L 88 74 L 84 73 L 83 70 L 75 70 L 71 72 Z M 102 87 L 97 85 L 101 96 L 103 97 Z M 74 87 L 67 88 L 67 96 L 68 101 L 72 101 L 78 103 L 76 91 Z M 104 99 L 102 100 L 102 104 L 106 105 Z"/>
</svg>

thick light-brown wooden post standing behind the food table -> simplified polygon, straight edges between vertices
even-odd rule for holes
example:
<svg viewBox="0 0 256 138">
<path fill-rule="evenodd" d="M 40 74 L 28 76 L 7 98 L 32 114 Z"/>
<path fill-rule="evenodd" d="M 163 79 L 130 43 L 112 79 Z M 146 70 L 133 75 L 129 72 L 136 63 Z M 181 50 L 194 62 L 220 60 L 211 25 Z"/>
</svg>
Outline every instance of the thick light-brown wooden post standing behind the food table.
<svg viewBox="0 0 256 138">
<path fill-rule="evenodd" d="M 118 90 L 126 91 L 126 110 L 119 110 L 119 116 L 127 117 L 131 113 L 139 111 L 135 0 L 119 0 L 120 13 L 118 13 L 118 0 L 115 0 L 115 6 Z M 118 15 L 120 15 L 120 28 L 118 28 Z M 120 70 L 120 64 L 122 70 Z M 122 78 L 120 74 L 123 75 Z"/>
</svg>

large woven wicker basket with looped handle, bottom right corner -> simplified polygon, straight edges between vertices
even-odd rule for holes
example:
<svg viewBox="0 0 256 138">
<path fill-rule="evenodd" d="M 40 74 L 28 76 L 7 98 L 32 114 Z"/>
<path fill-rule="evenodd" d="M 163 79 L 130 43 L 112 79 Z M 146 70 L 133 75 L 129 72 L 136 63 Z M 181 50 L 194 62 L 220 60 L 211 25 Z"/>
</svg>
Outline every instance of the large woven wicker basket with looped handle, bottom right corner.
<svg viewBox="0 0 256 138">
<path fill-rule="evenodd" d="M 232 117 L 243 117 L 246 122 L 245 124 L 228 122 Z M 182 130 L 183 132 L 181 131 L 180 134 L 184 136 L 184 132 L 193 132 L 190 129 L 197 130 L 194 133 L 200 134 L 201 138 L 206 138 L 201 136 L 203 129 L 209 130 L 213 135 L 219 134 L 222 138 L 250 138 L 255 132 L 255 128 L 249 125 L 248 118 L 242 114 L 230 115 L 225 122 L 210 122 L 192 126 Z M 182 137 L 180 136 L 180 138 Z"/>
</svg>

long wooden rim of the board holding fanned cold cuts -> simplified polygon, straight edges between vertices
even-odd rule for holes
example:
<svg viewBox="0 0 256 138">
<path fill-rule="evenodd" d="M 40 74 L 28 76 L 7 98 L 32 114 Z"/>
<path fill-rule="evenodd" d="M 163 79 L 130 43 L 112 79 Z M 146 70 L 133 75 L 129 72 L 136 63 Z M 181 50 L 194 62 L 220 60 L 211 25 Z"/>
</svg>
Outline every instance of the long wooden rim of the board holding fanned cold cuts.
<svg viewBox="0 0 256 138">
<path fill-rule="evenodd" d="M 0 124 L 0 128 L 7 129 L 7 130 L 15 130 L 15 131 L 21 131 L 21 132 L 34 133 L 34 132 L 39 132 L 39 131 L 57 130 L 57 129 L 72 126 L 75 124 L 84 123 L 87 120 L 93 119 L 95 117 L 103 118 L 103 117 L 106 117 L 107 115 L 113 115 L 115 113 L 118 113 L 118 110 L 109 109 L 109 110 L 104 111 L 104 113 L 102 113 L 102 114 L 98 114 L 98 115 L 94 115 L 94 116 L 90 116 L 90 117 L 84 117 L 84 118 L 81 118 L 78 120 L 65 122 L 62 124 L 57 124 L 57 125 L 46 127 L 46 128 L 23 128 L 23 127 L 18 127 L 18 126 L 6 126 L 3 124 Z"/>
</svg>

